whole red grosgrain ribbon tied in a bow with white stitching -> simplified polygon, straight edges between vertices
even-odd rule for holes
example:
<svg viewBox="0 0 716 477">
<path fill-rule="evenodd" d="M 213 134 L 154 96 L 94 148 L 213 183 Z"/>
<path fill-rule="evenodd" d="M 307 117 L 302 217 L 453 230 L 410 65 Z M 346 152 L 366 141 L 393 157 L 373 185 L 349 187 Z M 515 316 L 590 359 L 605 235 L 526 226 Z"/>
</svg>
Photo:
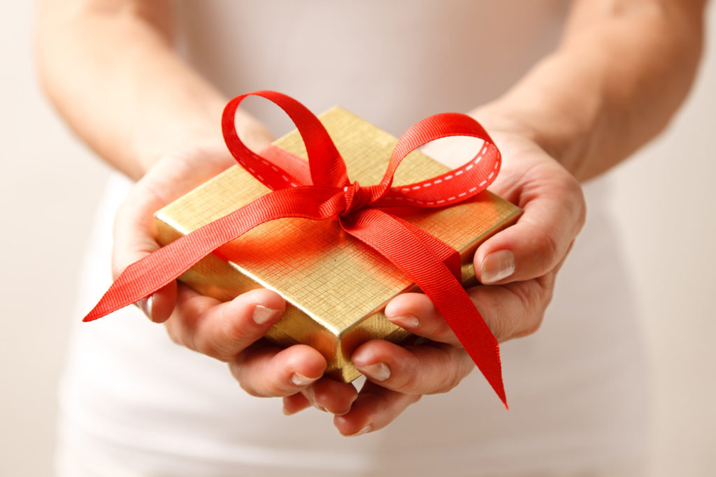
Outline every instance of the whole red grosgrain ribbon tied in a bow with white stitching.
<svg viewBox="0 0 716 477">
<path fill-rule="evenodd" d="M 238 104 L 249 95 L 264 97 L 284 109 L 306 144 L 308 162 L 278 147 L 259 155 L 241 142 L 234 119 Z M 500 169 L 500 152 L 475 119 L 445 113 L 418 122 L 400 137 L 381 182 L 368 187 L 348 180 L 345 163 L 319 119 L 284 94 L 258 91 L 238 96 L 226 105 L 221 125 L 233 157 L 273 192 L 127 267 L 84 321 L 151 295 L 216 248 L 263 222 L 283 217 L 337 219 L 345 232 L 377 250 L 430 297 L 506 406 L 500 348 L 460 284 L 460 255 L 386 210 L 446 207 L 470 199 L 493 182 Z M 478 137 L 484 144 L 462 167 L 430 180 L 392 187 L 395 169 L 408 153 L 450 136 Z"/>
</svg>

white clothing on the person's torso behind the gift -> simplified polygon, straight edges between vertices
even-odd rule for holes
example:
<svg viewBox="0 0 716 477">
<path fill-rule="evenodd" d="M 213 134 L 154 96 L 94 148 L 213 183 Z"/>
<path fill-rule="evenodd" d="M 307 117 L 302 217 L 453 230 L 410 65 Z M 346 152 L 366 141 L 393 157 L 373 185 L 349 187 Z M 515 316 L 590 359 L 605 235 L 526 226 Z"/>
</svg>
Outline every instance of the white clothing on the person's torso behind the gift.
<svg viewBox="0 0 716 477">
<path fill-rule="evenodd" d="M 426 114 L 464 111 L 508 87 L 553 46 L 563 3 L 516 2 L 515 12 L 499 1 L 186 2 L 178 4 L 178 29 L 189 59 L 230 94 L 278 89 L 314 111 L 337 103 L 398 134 Z M 513 14 L 519 21 L 505 21 Z M 459 38 L 470 41 L 447 53 Z M 407 59 L 395 62 L 399 54 Z M 321 62 L 332 66 L 308 73 Z M 112 211 L 129 187 L 114 177 L 95 217 L 77 315 L 110 284 Z M 586 187 L 588 222 L 541 330 L 502 347 L 511 410 L 473 373 L 382 431 L 342 438 L 328 414 L 286 417 L 280 400 L 246 395 L 226 365 L 174 345 L 130 307 L 74 330 L 61 391 L 60 471 L 553 475 L 638 460 L 647 430 L 644 372 L 619 248 L 600 206 L 606 192 L 603 180 Z M 113 473 L 97 473 L 97 462 Z"/>
</svg>

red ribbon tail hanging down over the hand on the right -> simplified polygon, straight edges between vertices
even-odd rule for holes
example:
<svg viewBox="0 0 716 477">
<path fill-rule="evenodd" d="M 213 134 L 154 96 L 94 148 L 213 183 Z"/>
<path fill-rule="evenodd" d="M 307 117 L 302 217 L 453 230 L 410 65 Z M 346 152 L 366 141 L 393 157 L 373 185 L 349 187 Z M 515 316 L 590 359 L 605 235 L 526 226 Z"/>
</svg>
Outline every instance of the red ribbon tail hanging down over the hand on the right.
<svg viewBox="0 0 716 477">
<path fill-rule="evenodd" d="M 390 260 L 430 297 L 506 408 L 500 345 L 495 336 L 460 281 L 401 222 L 376 209 L 341 219 L 346 232 Z"/>
</svg>

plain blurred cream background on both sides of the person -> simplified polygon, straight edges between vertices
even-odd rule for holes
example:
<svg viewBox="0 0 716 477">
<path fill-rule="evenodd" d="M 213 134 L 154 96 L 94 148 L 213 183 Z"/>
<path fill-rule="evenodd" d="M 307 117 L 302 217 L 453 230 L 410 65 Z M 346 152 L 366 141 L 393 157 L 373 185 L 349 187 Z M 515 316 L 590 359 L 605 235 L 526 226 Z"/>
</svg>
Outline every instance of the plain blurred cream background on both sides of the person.
<svg viewBox="0 0 716 477">
<path fill-rule="evenodd" d="M 89 217 L 108 169 L 44 101 L 32 2 L 0 6 L 0 476 L 52 473 L 56 387 Z M 697 84 L 662 137 L 614 172 L 650 363 L 651 476 L 716 467 L 716 9 Z"/>
</svg>

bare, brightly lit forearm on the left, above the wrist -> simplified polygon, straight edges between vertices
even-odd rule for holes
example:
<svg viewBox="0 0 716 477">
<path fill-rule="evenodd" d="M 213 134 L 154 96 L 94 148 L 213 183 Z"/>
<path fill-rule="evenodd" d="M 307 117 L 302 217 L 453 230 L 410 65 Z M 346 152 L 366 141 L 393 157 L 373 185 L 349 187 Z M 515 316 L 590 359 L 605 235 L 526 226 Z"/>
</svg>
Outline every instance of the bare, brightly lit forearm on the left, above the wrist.
<svg viewBox="0 0 716 477">
<path fill-rule="evenodd" d="M 40 4 L 47 94 L 79 137 L 135 179 L 185 142 L 221 140 L 226 98 L 175 54 L 169 13 L 165 1 Z"/>
</svg>

